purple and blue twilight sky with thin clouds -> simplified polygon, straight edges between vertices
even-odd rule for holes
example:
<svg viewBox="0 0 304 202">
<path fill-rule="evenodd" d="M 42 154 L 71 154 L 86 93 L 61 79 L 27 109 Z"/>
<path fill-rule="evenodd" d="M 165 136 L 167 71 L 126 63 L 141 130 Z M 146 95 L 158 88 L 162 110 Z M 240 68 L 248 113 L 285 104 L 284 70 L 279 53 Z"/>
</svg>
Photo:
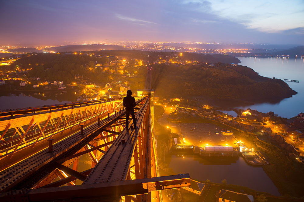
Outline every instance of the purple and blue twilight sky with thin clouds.
<svg viewBox="0 0 304 202">
<path fill-rule="evenodd" d="M 304 44 L 303 0 L 0 0 L 0 45 L 64 41 Z"/>
</svg>

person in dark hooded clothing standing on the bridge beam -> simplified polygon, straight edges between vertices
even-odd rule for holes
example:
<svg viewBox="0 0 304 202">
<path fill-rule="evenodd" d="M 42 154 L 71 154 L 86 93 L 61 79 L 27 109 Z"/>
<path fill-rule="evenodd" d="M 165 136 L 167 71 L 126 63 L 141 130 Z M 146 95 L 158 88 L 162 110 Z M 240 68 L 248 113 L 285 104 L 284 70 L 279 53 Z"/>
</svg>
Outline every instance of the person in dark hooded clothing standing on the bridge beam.
<svg viewBox="0 0 304 202">
<path fill-rule="evenodd" d="M 133 119 L 134 128 L 136 126 L 136 119 L 134 114 L 134 107 L 136 105 L 135 98 L 132 97 L 132 91 L 127 90 L 127 96 L 123 98 L 123 106 L 126 108 L 126 129 L 129 129 L 129 116 L 131 114 Z"/>
</svg>

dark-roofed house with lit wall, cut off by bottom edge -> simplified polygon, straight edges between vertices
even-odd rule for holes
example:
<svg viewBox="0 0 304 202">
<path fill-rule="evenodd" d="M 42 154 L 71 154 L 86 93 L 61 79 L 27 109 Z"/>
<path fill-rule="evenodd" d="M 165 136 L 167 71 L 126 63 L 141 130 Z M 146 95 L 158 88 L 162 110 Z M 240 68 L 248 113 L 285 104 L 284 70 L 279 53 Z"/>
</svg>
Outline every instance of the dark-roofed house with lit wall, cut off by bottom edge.
<svg viewBox="0 0 304 202">
<path fill-rule="evenodd" d="M 254 202 L 254 197 L 248 194 L 219 189 L 218 202 Z"/>
</svg>

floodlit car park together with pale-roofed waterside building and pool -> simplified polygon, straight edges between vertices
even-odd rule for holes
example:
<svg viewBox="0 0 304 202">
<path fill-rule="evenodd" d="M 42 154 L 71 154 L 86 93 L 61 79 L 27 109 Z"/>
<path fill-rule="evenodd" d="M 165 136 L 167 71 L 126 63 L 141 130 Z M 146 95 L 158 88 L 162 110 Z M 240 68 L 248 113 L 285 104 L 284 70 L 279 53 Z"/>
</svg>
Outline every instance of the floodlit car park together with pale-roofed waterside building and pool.
<svg viewBox="0 0 304 202">
<path fill-rule="evenodd" d="M 253 166 L 266 163 L 259 152 L 246 148 L 244 142 L 237 140 L 233 131 L 210 123 L 181 123 L 179 127 L 179 140 L 174 138 L 176 151 L 190 152 L 202 158 L 241 156 Z"/>
</svg>

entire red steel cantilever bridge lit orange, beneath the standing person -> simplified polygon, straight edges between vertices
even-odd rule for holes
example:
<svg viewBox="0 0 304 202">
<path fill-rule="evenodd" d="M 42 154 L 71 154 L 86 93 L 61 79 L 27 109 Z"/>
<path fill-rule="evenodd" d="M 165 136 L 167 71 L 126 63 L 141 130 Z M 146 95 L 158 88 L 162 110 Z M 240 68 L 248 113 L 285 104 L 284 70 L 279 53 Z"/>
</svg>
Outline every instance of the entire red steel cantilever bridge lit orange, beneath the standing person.
<svg viewBox="0 0 304 202">
<path fill-rule="evenodd" d="M 0 111 L 0 201 L 162 201 L 189 187 L 188 174 L 160 177 L 153 98 L 135 99 L 129 130 L 121 98 Z"/>
</svg>

